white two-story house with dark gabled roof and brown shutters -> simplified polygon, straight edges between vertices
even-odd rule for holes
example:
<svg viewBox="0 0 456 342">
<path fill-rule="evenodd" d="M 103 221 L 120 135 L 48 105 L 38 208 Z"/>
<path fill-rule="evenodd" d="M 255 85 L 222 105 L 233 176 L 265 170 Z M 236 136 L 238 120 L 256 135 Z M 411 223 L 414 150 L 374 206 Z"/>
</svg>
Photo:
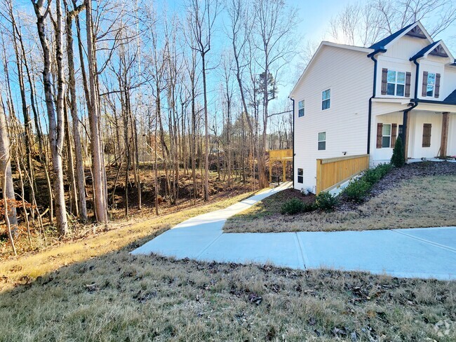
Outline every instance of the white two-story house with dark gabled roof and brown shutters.
<svg viewBox="0 0 456 342">
<path fill-rule="evenodd" d="M 294 186 L 316 189 L 316 159 L 456 155 L 456 62 L 420 22 L 369 48 L 323 41 L 290 93 Z"/>
</svg>

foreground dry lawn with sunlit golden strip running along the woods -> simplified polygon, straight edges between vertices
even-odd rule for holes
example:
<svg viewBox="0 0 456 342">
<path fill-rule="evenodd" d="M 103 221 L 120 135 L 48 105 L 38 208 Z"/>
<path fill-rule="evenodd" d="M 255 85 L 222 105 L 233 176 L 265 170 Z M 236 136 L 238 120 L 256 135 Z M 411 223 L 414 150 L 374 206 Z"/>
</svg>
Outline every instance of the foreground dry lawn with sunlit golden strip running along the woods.
<svg viewBox="0 0 456 342">
<path fill-rule="evenodd" d="M 456 282 L 128 252 L 247 194 L 0 264 L 0 341 L 454 341 Z"/>
</svg>

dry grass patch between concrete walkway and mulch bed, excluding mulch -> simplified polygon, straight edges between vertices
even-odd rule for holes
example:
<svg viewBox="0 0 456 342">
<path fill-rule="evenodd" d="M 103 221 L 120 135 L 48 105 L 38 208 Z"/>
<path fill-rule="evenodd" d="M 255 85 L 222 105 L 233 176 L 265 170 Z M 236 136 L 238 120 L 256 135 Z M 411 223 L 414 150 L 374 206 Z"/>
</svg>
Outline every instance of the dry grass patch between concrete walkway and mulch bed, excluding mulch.
<svg viewBox="0 0 456 342">
<path fill-rule="evenodd" d="M 266 198 L 227 220 L 224 231 L 363 231 L 387 228 L 456 226 L 456 177 L 416 177 L 401 182 L 358 210 L 280 214 L 280 195 Z"/>
</svg>

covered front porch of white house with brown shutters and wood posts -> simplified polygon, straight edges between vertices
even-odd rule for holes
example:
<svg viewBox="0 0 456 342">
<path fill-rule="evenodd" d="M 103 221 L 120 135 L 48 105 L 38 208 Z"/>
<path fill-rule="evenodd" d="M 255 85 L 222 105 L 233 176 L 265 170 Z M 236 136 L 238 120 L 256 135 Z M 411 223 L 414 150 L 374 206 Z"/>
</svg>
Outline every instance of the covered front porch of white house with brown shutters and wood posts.
<svg viewBox="0 0 456 342">
<path fill-rule="evenodd" d="M 396 139 L 401 137 L 405 162 L 454 158 L 456 155 L 456 111 L 438 108 L 394 111 L 375 117 L 377 137 L 373 165 L 389 162 Z"/>
</svg>

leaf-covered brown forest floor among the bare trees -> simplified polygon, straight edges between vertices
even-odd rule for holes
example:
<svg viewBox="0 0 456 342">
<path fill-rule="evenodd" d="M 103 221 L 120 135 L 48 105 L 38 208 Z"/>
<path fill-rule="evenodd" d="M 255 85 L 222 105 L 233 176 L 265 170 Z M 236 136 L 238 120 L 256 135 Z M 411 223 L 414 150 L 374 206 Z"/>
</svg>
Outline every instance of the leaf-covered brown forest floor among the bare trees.
<svg viewBox="0 0 456 342">
<path fill-rule="evenodd" d="M 93 221 L 93 202 L 92 202 L 92 179 L 90 169 L 86 168 L 86 190 L 88 192 L 87 207 L 89 214 L 89 223 L 80 224 L 79 221 L 72 214 L 69 214 L 69 234 L 65 238 L 58 238 L 58 233 L 55 226 L 51 224 L 49 219 L 48 208 L 48 191 L 47 181 L 45 174 L 42 170 L 41 165 L 35 163 L 36 170 L 36 202 L 41 213 L 46 212 L 43 215 L 44 231 L 39 228 L 39 223 L 35 219 L 32 222 L 31 219 L 31 235 L 32 245 L 29 244 L 27 238 L 27 229 L 25 222 L 23 221 L 22 210 L 18 208 L 18 214 L 20 218 L 20 226 L 18 230 L 18 236 L 15 238 L 15 245 L 18 249 L 18 254 L 24 254 L 29 252 L 38 252 L 41 249 L 47 249 L 55 245 L 60 245 L 72 240 L 79 240 L 87 238 L 93 235 L 94 232 L 104 231 L 105 227 L 97 226 L 90 221 Z M 113 227 L 131 224 L 132 222 L 144 221 L 146 219 L 154 219 L 156 217 L 155 211 L 155 193 L 154 193 L 154 170 L 152 164 L 145 163 L 141 164 L 140 178 L 141 178 L 141 193 L 142 193 L 142 208 L 138 208 L 138 189 L 135 186 L 135 179 L 133 170 L 130 171 L 130 177 L 128 182 L 128 217 L 126 217 L 126 186 L 125 186 L 125 168 L 123 167 L 118 175 L 117 167 L 107 167 L 107 189 L 108 189 L 108 202 L 109 202 L 109 225 L 107 229 Z M 13 165 L 13 172 L 15 171 Z M 18 175 L 15 182 L 19 182 Z M 246 178 L 246 182 L 243 182 L 243 178 L 240 173 L 236 175 L 236 172 L 232 174 L 232 184 L 228 186 L 227 176 L 222 172 L 220 173 L 220 179 L 218 178 L 217 172 L 211 171 L 209 173 L 209 193 L 210 203 L 215 203 L 220 200 L 239 196 L 243 193 L 250 193 L 257 186 L 257 182 L 252 182 L 251 179 Z M 14 174 L 13 174 L 14 176 Z M 117 178 L 117 180 L 116 180 Z M 188 209 L 191 207 L 198 207 L 206 204 L 203 200 L 202 191 L 202 177 L 201 170 L 196 172 L 196 196 L 194 196 L 194 185 L 192 175 L 189 172 L 180 170 L 179 182 L 177 184 L 177 200 L 173 200 L 166 186 L 166 176 L 163 170 L 159 170 L 158 177 L 159 184 L 159 216 L 170 214 L 173 212 L 180 212 L 181 210 Z M 114 191 L 115 184 L 115 191 Z M 257 188 L 256 188 L 257 189 Z M 27 188 L 26 188 L 27 191 Z M 69 207 L 69 196 L 68 196 L 68 185 L 65 188 L 67 195 L 67 205 Z M 113 196 L 114 193 L 114 196 Z M 27 197 L 27 196 L 26 196 Z M 114 198 L 114 202 L 113 202 Z M 0 260 L 8 259 L 11 257 L 11 244 L 8 240 L 8 234 L 6 232 L 6 226 L 0 225 Z"/>
</svg>

